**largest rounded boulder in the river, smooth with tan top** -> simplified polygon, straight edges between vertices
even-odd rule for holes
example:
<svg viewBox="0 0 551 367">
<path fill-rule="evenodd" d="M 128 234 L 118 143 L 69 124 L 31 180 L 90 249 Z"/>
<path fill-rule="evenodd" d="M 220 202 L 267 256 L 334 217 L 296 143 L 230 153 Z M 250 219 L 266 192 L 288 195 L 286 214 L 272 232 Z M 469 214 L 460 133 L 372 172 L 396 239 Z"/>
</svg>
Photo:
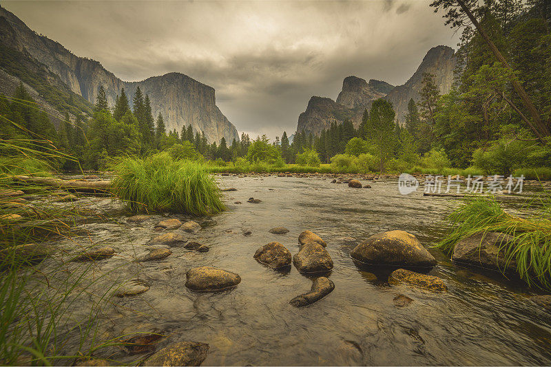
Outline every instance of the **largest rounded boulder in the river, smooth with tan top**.
<svg viewBox="0 0 551 367">
<path fill-rule="evenodd" d="M 390 231 L 375 234 L 357 245 L 350 256 L 361 263 L 408 267 L 433 267 L 436 259 L 413 234 Z"/>
</svg>

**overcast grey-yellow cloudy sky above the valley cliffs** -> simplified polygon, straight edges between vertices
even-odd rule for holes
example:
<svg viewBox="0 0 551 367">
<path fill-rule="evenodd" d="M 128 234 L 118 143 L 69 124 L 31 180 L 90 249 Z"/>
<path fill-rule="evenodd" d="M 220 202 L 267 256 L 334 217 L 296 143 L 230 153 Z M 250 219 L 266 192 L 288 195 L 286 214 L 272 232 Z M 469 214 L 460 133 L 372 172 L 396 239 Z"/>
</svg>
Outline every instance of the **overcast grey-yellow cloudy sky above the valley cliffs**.
<svg viewBox="0 0 551 367">
<path fill-rule="evenodd" d="M 123 80 L 171 71 L 216 89 L 241 133 L 291 135 L 311 96 L 349 75 L 399 85 L 430 47 L 457 48 L 430 1 L 2 1 L 32 30 Z"/>
</svg>

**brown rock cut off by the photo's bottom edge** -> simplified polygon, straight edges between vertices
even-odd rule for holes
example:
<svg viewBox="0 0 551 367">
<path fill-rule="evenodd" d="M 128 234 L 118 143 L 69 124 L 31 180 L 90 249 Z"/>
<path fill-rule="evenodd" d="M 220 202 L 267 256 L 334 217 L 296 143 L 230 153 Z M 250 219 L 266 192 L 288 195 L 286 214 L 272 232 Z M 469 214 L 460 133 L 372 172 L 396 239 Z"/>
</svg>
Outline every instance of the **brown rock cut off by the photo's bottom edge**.
<svg viewBox="0 0 551 367">
<path fill-rule="evenodd" d="M 142 366 L 200 366 L 208 353 L 209 344 L 180 342 L 154 353 Z"/>
</svg>

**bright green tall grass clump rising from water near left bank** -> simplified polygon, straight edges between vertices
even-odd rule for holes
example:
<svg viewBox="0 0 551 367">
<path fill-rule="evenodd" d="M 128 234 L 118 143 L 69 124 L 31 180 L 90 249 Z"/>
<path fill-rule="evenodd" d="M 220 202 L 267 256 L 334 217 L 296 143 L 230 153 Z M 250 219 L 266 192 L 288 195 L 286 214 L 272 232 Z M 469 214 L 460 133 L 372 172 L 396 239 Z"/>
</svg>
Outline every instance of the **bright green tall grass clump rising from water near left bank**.
<svg viewBox="0 0 551 367">
<path fill-rule="evenodd" d="M 167 153 L 147 159 L 123 158 L 115 166 L 112 190 L 134 212 L 205 215 L 225 209 L 220 189 L 205 166 L 174 160 Z"/>
</svg>

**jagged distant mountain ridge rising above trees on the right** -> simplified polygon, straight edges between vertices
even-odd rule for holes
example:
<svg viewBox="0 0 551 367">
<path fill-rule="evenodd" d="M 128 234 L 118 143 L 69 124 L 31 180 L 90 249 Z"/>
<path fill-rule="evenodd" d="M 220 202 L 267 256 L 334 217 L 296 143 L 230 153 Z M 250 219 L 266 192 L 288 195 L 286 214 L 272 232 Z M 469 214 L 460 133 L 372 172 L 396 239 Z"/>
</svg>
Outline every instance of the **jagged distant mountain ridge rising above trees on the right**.
<svg viewBox="0 0 551 367">
<path fill-rule="evenodd" d="M 454 50 L 448 46 L 437 46 L 428 50 L 417 71 L 404 85 L 395 87 L 381 80 L 366 82 L 357 76 L 347 76 L 337 100 L 317 96 L 310 98 L 306 111 L 298 117 L 297 131 L 320 135 L 322 130 L 331 127 L 331 123 L 340 124 L 346 119 L 357 128 L 362 122 L 364 110 L 370 109 L 371 103 L 379 98 L 393 103 L 396 118 L 403 124 L 409 100 L 419 101 L 423 74 L 434 74 L 440 93 L 445 94 L 451 89 L 455 64 Z"/>
</svg>

